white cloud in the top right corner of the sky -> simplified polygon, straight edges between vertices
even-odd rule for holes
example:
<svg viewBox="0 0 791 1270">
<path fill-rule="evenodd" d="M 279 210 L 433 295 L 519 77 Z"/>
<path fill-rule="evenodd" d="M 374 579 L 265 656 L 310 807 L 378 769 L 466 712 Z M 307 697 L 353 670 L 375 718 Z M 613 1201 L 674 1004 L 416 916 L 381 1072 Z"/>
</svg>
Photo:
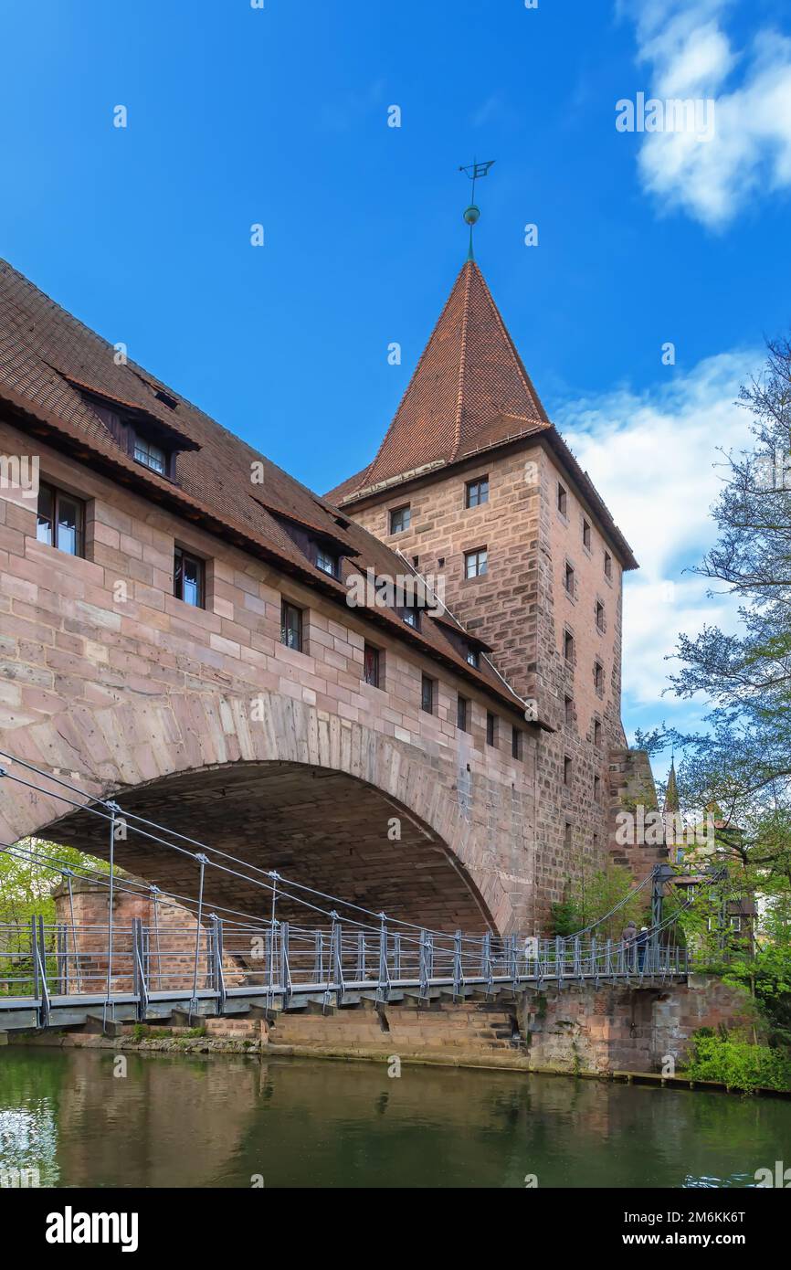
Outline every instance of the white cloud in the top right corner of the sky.
<svg viewBox="0 0 791 1270">
<path fill-rule="evenodd" d="M 763 27 L 749 48 L 734 51 L 722 25 L 728 0 L 625 0 L 620 8 L 636 24 L 648 95 L 716 103 L 708 140 L 693 132 L 644 135 L 645 189 L 711 229 L 726 226 L 758 194 L 788 189 L 791 39 Z"/>
</svg>

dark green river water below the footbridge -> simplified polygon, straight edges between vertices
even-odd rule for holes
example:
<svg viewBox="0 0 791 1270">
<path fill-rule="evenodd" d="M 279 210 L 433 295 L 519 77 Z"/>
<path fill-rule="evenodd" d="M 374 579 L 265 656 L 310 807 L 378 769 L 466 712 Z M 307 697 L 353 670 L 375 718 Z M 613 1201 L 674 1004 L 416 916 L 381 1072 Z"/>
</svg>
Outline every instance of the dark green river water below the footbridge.
<svg viewBox="0 0 791 1270">
<path fill-rule="evenodd" d="M 791 1102 L 312 1059 L 0 1049 L 0 1171 L 42 1186 L 749 1186 Z M 13 1177 L 14 1173 L 11 1172 Z"/>
</svg>

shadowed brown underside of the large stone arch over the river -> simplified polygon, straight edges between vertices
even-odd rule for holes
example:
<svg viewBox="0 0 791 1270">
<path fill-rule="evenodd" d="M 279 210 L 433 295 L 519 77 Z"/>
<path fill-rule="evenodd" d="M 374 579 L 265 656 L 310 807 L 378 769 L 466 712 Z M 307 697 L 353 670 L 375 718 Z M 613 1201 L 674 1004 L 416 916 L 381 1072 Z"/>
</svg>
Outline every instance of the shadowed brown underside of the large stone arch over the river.
<svg viewBox="0 0 791 1270">
<path fill-rule="evenodd" d="M 475 881 L 437 833 L 390 794 L 345 772 L 293 762 L 241 762 L 178 772 L 114 796 L 124 813 L 373 913 L 434 930 L 494 927 Z M 400 838 L 390 836 L 394 818 Z M 36 832 L 109 857 L 108 823 L 89 812 L 71 812 Z M 152 828 L 149 832 L 156 833 Z M 199 850 L 183 842 L 179 846 Z M 207 856 L 229 870 L 236 867 L 211 851 Z M 132 828 L 126 841 L 116 842 L 116 861 L 164 892 L 198 894 L 196 860 Z M 270 916 L 270 893 L 232 872 L 207 867 L 203 895 L 206 909 L 220 916 L 230 916 L 225 911 Z M 305 898 L 324 911 L 333 907 L 314 895 Z M 338 912 L 342 919 L 364 919 L 345 906 Z M 321 913 L 311 913 L 283 894 L 277 917 L 306 926 L 326 922 Z"/>
</svg>

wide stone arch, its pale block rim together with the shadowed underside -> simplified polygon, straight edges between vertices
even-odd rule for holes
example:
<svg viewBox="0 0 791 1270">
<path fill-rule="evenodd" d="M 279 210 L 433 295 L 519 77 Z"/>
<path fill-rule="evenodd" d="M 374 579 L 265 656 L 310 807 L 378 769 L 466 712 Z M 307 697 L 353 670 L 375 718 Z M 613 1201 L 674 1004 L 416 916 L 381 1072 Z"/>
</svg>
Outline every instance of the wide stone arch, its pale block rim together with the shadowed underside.
<svg viewBox="0 0 791 1270">
<path fill-rule="evenodd" d="M 123 810 L 361 907 L 432 928 L 514 926 L 489 819 L 503 799 L 519 832 L 514 791 L 479 782 L 489 805 L 480 795 L 465 801 L 448 758 L 277 692 L 258 700 L 258 712 L 251 723 L 246 698 L 206 692 L 81 707 L 5 729 L 0 748 L 76 773 L 88 796 L 113 796 Z M 4 781 L 0 798 L 4 842 L 38 834 L 108 857 L 103 822 L 15 782 Z M 137 834 L 116 842 L 116 860 L 163 889 L 196 893 L 194 861 Z M 230 875 L 207 876 L 206 899 L 262 912 L 260 892 Z"/>
</svg>

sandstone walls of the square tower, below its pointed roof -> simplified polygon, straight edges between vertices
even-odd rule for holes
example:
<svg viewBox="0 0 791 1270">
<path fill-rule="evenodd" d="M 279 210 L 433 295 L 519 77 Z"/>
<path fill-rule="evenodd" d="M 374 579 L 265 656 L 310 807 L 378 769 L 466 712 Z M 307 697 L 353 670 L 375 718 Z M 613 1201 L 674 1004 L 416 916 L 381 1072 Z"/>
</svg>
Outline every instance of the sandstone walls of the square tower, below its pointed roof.
<svg viewBox="0 0 791 1270">
<path fill-rule="evenodd" d="M 489 479 L 489 500 L 466 508 L 465 485 L 482 475 Z M 557 508 L 559 481 L 566 490 L 565 514 Z M 405 503 L 411 508 L 410 527 L 390 533 L 390 511 Z M 394 486 L 345 511 L 409 560 L 416 559 L 420 573 L 444 578 L 451 611 L 491 645 L 496 665 L 521 695 L 537 700 L 541 716 L 556 729 L 541 734 L 535 754 L 538 927 L 546 923 L 548 906 L 562 899 L 568 879 L 602 867 L 612 846 L 611 753 L 617 767 L 625 745 L 621 565 L 569 480 L 536 444 L 482 455 L 452 472 Z M 589 547 L 583 541 L 584 519 Z M 488 573 L 466 579 L 465 552 L 481 546 L 488 550 Z M 609 578 L 606 551 L 612 558 Z M 566 561 L 574 569 L 571 594 L 565 587 Z M 602 629 L 597 602 L 603 605 Z M 571 664 L 564 658 L 566 629 L 574 636 Z M 603 667 L 601 688 L 594 682 L 597 660 Z M 566 697 L 573 704 L 569 719 Z"/>
</svg>

